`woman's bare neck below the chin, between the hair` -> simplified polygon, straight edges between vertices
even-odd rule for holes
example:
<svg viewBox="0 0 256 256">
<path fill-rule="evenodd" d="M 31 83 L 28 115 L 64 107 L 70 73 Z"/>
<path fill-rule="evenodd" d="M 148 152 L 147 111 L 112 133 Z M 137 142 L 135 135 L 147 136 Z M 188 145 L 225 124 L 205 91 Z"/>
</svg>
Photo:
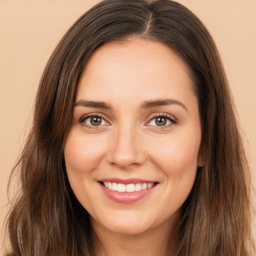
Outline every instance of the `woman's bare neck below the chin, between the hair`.
<svg viewBox="0 0 256 256">
<path fill-rule="evenodd" d="M 167 248 L 171 247 L 169 238 L 173 228 L 165 222 L 138 234 L 115 233 L 102 228 L 99 223 L 92 224 L 92 228 L 95 256 L 165 256 Z"/>
</svg>

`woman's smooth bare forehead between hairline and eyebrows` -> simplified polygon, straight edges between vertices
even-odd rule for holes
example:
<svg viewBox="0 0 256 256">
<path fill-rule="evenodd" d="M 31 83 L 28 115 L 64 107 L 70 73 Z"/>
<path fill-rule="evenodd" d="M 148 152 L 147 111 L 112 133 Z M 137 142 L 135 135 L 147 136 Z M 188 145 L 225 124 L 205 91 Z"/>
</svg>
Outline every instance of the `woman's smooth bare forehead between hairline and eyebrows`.
<svg viewBox="0 0 256 256">
<path fill-rule="evenodd" d="M 137 100 L 182 99 L 192 93 L 192 86 L 186 65 L 173 50 L 160 42 L 133 38 L 106 43 L 90 55 L 79 78 L 76 100 L 132 101 L 134 94 Z"/>
</svg>

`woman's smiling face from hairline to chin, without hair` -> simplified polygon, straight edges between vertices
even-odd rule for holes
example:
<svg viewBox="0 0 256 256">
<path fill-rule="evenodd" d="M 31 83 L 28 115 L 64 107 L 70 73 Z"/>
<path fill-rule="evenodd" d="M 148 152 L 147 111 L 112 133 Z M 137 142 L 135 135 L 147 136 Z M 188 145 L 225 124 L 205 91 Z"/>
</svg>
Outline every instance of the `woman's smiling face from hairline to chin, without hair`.
<svg viewBox="0 0 256 256">
<path fill-rule="evenodd" d="M 192 86 L 184 63 L 159 42 L 106 43 L 90 56 L 64 157 L 95 229 L 138 234 L 177 219 L 203 161 Z"/>
</svg>

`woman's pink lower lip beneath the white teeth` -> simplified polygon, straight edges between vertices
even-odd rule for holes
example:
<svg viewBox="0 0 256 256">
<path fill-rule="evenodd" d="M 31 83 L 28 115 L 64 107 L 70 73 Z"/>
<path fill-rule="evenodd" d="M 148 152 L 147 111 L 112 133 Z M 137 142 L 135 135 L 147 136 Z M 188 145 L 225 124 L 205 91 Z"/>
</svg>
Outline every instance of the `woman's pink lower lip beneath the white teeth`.
<svg viewBox="0 0 256 256">
<path fill-rule="evenodd" d="M 116 202 L 121 202 L 121 203 L 132 203 L 132 202 L 138 201 L 146 197 L 157 186 L 157 184 L 155 184 L 150 188 L 143 189 L 140 191 L 134 191 L 134 192 L 118 192 L 118 191 L 113 191 L 106 188 L 100 182 L 99 182 L 99 185 L 106 196 L 108 196 L 110 199 Z"/>
</svg>

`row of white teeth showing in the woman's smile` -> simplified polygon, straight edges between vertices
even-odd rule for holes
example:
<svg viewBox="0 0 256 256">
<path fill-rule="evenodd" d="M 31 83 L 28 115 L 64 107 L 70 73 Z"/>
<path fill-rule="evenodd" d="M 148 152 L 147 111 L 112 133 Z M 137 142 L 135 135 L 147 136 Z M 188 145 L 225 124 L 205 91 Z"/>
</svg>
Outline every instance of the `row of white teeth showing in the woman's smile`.
<svg viewBox="0 0 256 256">
<path fill-rule="evenodd" d="M 147 188 L 150 188 L 154 185 L 154 183 L 131 183 L 131 184 L 122 184 L 116 182 L 103 182 L 104 186 L 110 190 L 118 191 L 118 192 L 134 192 L 140 191 Z"/>
</svg>

